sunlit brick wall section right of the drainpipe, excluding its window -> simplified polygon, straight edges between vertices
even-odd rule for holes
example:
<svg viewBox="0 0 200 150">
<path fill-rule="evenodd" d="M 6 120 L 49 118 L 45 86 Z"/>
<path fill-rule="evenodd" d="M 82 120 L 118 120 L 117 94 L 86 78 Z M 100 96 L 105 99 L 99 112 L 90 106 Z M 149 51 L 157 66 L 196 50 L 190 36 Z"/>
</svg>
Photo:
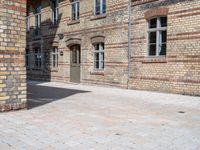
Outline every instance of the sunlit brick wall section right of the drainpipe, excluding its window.
<svg viewBox="0 0 200 150">
<path fill-rule="evenodd" d="M 131 88 L 200 95 L 200 1 L 133 3 Z M 147 21 L 167 16 L 165 57 L 147 56 Z"/>
</svg>

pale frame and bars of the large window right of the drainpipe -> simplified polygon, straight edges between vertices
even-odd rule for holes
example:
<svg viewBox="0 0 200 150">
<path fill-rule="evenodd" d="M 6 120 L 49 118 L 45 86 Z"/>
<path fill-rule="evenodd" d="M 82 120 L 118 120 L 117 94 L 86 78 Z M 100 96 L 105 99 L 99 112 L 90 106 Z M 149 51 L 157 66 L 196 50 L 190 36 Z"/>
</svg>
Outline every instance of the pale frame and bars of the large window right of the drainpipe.
<svg viewBox="0 0 200 150">
<path fill-rule="evenodd" d="M 161 27 L 161 17 L 166 17 L 167 16 L 160 16 L 160 17 L 156 17 L 156 18 L 152 18 L 152 19 L 157 19 L 157 23 L 156 23 L 156 28 L 150 28 L 150 21 L 152 19 L 149 20 L 148 22 L 148 56 L 149 57 L 159 57 L 159 56 L 166 56 L 166 55 L 160 55 L 160 52 L 162 50 L 162 31 L 166 31 L 167 32 L 167 26 L 166 27 Z M 156 55 L 150 55 L 150 33 L 152 32 L 156 32 Z M 167 35 L 166 35 L 167 36 Z M 167 41 L 166 43 L 167 44 Z"/>
</svg>

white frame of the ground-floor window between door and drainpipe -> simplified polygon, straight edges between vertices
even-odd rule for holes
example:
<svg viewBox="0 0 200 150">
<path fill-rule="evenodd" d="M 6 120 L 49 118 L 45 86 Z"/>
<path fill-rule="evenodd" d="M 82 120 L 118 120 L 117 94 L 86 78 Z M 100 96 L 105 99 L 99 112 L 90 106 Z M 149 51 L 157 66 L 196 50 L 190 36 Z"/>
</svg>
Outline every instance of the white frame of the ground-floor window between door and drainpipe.
<svg viewBox="0 0 200 150">
<path fill-rule="evenodd" d="M 97 44 L 99 44 L 99 50 L 96 50 L 95 49 L 95 45 L 97 45 Z M 104 61 L 104 59 L 105 59 L 105 51 L 104 51 L 104 43 L 96 43 L 96 44 L 94 44 L 93 45 L 93 57 L 94 57 L 94 70 L 100 70 L 100 71 L 103 71 L 104 70 L 104 68 L 105 68 L 105 61 Z M 99 66 L 98 67 L 96 67 L 96 62 L 97 62 L 97 60 L 96 60 L 96 56 L 95 56 L 95 54 L 97 54 L 97 53 L 99 53 Z"/>
</svg>

